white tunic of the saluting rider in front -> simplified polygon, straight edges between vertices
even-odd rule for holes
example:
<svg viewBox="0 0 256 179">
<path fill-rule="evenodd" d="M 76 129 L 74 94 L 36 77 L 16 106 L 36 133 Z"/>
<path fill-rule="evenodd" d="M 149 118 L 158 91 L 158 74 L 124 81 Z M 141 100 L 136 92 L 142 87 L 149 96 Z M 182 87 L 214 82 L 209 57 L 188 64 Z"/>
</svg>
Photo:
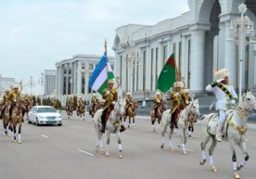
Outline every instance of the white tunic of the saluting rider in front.
<svg viewBox="0 0 256 179">
<path fill-rule="evenodd" d="M 224 87 L 226 89 L 228 89 L 228 91 L 230 92 L 231 96 L 233 98 L 237 98 L 237 94 L 234 90 L 234 87 L 231 84 L 224 84 L 222 83 L 222 85 L 224 85 Z M 218 87 L 217 85 L 215 85 L 214 87 L 211 86 L 211 84 L 209 84 L 208 86 L 206 86 L 206 91 L 208 92 L 213 92 L 215 94 L 216 97 L 216 110 L 227 110 L 230 109 L 230 97 L 227 96 L 224 91 Z"/>
</svg>

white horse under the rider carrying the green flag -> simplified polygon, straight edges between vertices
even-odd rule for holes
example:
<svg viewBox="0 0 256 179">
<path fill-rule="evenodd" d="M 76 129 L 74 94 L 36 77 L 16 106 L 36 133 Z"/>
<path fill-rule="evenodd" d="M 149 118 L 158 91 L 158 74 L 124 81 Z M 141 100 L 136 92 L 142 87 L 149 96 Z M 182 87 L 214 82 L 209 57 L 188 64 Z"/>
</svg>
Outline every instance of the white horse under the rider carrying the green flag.
<svg viewBox="0 0 256 179">
<path fill-rule="evenodd" d="M 169 134 L 169 147 L 173 151 L 173 144 L 172 144 L 172 136 L 174 132 L 174 128 L 171 128 L 171 109 L 165 110 L 162 114 L 162 131 L 161 131 L 161 145 L 160 147 L 164 147 L 164 134 L 166 133 L 167 126 L 170 126 L 170 134 Z M 186 130 L 188 128 L 190 120 L 194 121 L 194 117 L 198 118 L 199 116 L 199 105 L 198 99 L 192 100 L 189 105 L 186 106 L 186 109 L 183 109 L 178 116 L 177 125 L 181 134 L 182 139 L 182 148 L 183 154 L 186 155 Z"/>
</svg>

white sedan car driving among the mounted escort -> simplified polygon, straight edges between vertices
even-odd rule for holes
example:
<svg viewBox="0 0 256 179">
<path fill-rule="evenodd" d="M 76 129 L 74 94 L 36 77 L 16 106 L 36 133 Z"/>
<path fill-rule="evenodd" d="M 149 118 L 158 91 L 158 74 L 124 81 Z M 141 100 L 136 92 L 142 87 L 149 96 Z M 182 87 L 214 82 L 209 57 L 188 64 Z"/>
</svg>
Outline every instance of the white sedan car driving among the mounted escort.
<svg viewBox="0 0 256 179">
<path fill-rule="evenodd" d="M 57 124 L 62 125 L 61 115 L 56 109 L 49 106 L 34 106 L 29 111 L 29 123 L 41 124 Z"/>
</svg>

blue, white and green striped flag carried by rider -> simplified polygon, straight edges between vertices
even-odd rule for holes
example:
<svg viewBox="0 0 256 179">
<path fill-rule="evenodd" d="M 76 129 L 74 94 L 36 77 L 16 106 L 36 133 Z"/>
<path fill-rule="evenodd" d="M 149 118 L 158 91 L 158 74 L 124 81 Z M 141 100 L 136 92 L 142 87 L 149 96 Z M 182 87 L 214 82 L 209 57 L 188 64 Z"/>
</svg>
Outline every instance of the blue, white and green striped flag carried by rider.
<svg viewBox="0 0 256 179">
<path fill-rule="evenodd" d="M 96 69 L 89 80 L 89 86 L 102 95 L 103 90 L 108 87 L 108 80 L 114 79 L 114 73 L 108 61 L 107 54 L 100 59 Z"/>
</svg>

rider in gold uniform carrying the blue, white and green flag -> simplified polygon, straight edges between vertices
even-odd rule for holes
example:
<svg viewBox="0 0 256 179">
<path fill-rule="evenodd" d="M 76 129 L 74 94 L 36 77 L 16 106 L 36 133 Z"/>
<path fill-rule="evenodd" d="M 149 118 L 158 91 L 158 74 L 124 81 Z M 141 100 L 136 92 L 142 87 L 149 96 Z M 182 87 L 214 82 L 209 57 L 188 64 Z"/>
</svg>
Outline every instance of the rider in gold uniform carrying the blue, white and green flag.
<svg viewBox="0 0 256 179">
<path fill-rule="evenodd" d="M 118 101 L 118 91 L 113 89 L 114 80 L 109 80 L 108 88 L 103 90 L 102 98 L 105 99 L 104 110 L 101 115 L 102 126 L 100 132 L 105 133 L 106 123 L 109 119 L 111 111 L 114 109 L 115 103 Z M 124 126 L 121 125 L 121 132 L 124 131 Z"/>
</svg>

